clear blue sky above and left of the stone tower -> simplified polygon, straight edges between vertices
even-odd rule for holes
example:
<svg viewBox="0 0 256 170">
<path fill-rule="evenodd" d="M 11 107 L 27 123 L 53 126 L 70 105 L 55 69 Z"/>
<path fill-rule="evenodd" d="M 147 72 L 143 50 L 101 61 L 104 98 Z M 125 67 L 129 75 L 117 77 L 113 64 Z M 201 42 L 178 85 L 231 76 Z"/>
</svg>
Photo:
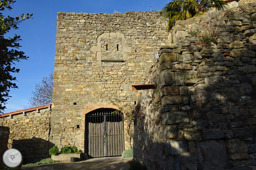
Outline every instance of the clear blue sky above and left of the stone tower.
<svg viewBox="0 0 256 170">
<path fill-rule="evenodd" d="M 35 84 L 54 71 L 57 12 L 76 13 L 121 13 L 126 11 L 161 10 L 170 0 L 16 0 L 13 10 L 3 11 L 4 16 L 20 16 L 33 13 L 34 19 L 23 21 L 17 30 L 7 35 L 20 35 L 20 50 L 29 56 L 28 60 L 17 62 L 20 69 L 15 82 L 17 89 L 11 89 L 7 109 L 4 113 L 22 110 L 28 106 L 28 100 L 35 89 Z"/>
</svg>

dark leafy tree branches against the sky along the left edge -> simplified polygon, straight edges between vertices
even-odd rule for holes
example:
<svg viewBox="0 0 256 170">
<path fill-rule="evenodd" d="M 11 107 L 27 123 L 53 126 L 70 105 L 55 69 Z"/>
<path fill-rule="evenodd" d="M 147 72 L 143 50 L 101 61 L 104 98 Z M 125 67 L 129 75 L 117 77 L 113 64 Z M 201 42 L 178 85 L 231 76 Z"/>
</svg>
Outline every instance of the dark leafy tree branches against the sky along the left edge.
<svg viewBox="0 0 256 170">
<path fill-rule="evenodd" d="M 18 88 L 16 83 L 12 81 L 16 80 L 16 77 L 12 77 L 10 73 L 18 73 L 20 69 L 16 69 L 12 65 L 14 62 L 20 62 L 22 59 L 27 59 L 24 56 L 23 51 L 18 51 L 20 44 L 20 36 L 16 34 L 13 38 L 5 38 L 5 34 L 11 29 L 18 29 L 19 23 L 29 18 L 32 18 L 33 14 L 24 15 L 20 17 L 11 17 L 3 15 L 2 11 L 12 10 L 12 4 L 16 1 L 13 0 L 0 0 L 0 113 L 6 108 L 5 103 L 8 100 L 10 88 Z"/>
</svg>

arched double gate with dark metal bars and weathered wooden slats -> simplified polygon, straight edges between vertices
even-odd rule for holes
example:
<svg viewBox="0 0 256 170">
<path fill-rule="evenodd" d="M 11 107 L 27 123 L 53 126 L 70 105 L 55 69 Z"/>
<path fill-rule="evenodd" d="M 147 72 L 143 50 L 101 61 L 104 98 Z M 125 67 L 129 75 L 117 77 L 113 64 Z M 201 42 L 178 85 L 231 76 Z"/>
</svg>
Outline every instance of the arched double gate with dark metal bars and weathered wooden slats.
<svg viewBox="0 0 256 170">
<path fill-rule="evenodd" d="M 122 155 L 124 150 L 123 115 L 115 110 L 99 110 L 86 117 L 87 154 L 89 157 Z"/>
</svg>

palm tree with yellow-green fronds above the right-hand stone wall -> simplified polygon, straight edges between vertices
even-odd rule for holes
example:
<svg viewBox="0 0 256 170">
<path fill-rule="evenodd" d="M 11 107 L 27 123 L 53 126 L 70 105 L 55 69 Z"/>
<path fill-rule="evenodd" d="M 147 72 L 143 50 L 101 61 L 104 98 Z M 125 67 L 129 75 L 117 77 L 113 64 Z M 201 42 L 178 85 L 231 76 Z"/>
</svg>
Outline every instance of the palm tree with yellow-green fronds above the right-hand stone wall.
<svg viewBox="0 0 256 170">
<path fill-rule="evenodd" d="M 206 14 L 212 7 L 216 10 L 224 10 L 226 5 L 227 3 L 223 0 L 174 0 L 165 5 L 161 15 L 164 19 L 168 19 L 166 30 L 171 31 L 178 20 Z"/>
</svg>

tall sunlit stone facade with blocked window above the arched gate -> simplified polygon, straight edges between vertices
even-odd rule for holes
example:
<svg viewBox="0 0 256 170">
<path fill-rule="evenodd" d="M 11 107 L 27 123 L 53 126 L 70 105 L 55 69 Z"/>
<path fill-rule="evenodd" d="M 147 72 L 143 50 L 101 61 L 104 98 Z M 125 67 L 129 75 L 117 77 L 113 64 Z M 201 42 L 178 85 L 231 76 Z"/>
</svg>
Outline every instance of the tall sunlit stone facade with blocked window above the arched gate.
<svg viewBox="0 0 256 170">
<path fill-rule="evenodd" d="M 115 99 L 135 104 L 139 93 L 131 85 L 143 82 L 154 52 L 169 43 L 166 22 L 160 11 L 58 12 L 57 18 L 50 141 L 85 152 L 85 114 L 90 107 L 115 108 Z"/>
</svg>

